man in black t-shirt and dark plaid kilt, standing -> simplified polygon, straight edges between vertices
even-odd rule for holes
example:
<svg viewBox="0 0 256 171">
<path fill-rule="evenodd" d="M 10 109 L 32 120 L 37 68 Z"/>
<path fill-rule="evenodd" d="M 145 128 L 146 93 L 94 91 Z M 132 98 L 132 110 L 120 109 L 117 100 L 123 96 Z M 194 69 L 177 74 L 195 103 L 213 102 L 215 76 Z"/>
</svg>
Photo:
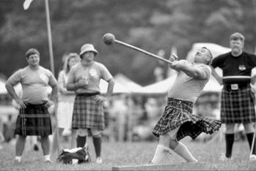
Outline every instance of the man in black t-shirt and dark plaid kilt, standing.
<svg viewBox="0 0 256 171">
<path fill-rule="evenodd" d="M 256 160 L 254 137 L 255 122 L 255 94 L 252 93 L 250 83 L 255 83 L 255 76 L 251 78 L 252 69 L 256 66 L 256 56 L 243 51 L 244 36 L 235 33 L 230 36 L 231 52 L 213 59 L 211 67 L 213 76 L 223 84 L 221 99 L 221 121 L 226 125 L 225 140 L 226 153 L 221 160 L 232 159 L 235 123 L 243 123 L 249 148 L 252 150 L 250 160 Z M 215 68 L 222 69 L 223 77 L 219 77 Z"/>
</svg>

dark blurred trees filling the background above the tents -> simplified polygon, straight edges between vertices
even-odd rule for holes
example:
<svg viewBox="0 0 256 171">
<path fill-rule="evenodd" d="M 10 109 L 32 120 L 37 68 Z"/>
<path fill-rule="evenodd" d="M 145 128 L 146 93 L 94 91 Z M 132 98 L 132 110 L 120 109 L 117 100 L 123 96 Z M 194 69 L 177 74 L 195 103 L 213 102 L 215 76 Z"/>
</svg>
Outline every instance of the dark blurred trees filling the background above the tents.
<svg viewBox="0 0 256 171">
<path fill-rule="evenodd" d="M 106 33 L 150 53 L 163 49 L 164 58 L 175 46 L 178 56 L 186 58 L 194 42 L 229 47 L 230 34 L 238 31 L 246 37 L 244 50 L 255 52 L 254 0 L 49 0 L 49 9 L 56 77 L 62 56 L 92 43 L 99 51 L 95 61 L 112 75 L 122 72 L 142 85 L 153 83 L 158 61 L 128 47 L 105 45 Z M 50 69 L 45 1 L 34 0 L 25 11 L 21 0 L 1 0 L 0 16 L 0 73 L 7 78 L 26 66 L 31 47 Z"/>
</svg>

